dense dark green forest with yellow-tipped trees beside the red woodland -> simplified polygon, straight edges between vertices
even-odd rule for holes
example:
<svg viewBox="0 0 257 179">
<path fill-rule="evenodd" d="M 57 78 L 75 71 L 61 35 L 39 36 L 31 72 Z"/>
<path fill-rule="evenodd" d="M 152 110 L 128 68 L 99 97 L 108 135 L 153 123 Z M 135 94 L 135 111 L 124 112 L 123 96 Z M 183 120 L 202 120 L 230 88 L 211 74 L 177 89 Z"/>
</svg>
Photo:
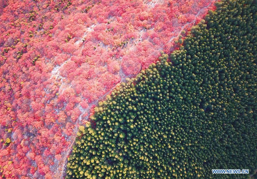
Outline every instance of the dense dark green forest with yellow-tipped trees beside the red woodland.
<svg viewBox="0 0 257 179">
<path fill-rule="evenodd" d="M 223 0 L 184 47 L 123 83 L 81 126 L 66 178 L 247 178 L 256 166 L 256 4 Z"/>
</svg>

